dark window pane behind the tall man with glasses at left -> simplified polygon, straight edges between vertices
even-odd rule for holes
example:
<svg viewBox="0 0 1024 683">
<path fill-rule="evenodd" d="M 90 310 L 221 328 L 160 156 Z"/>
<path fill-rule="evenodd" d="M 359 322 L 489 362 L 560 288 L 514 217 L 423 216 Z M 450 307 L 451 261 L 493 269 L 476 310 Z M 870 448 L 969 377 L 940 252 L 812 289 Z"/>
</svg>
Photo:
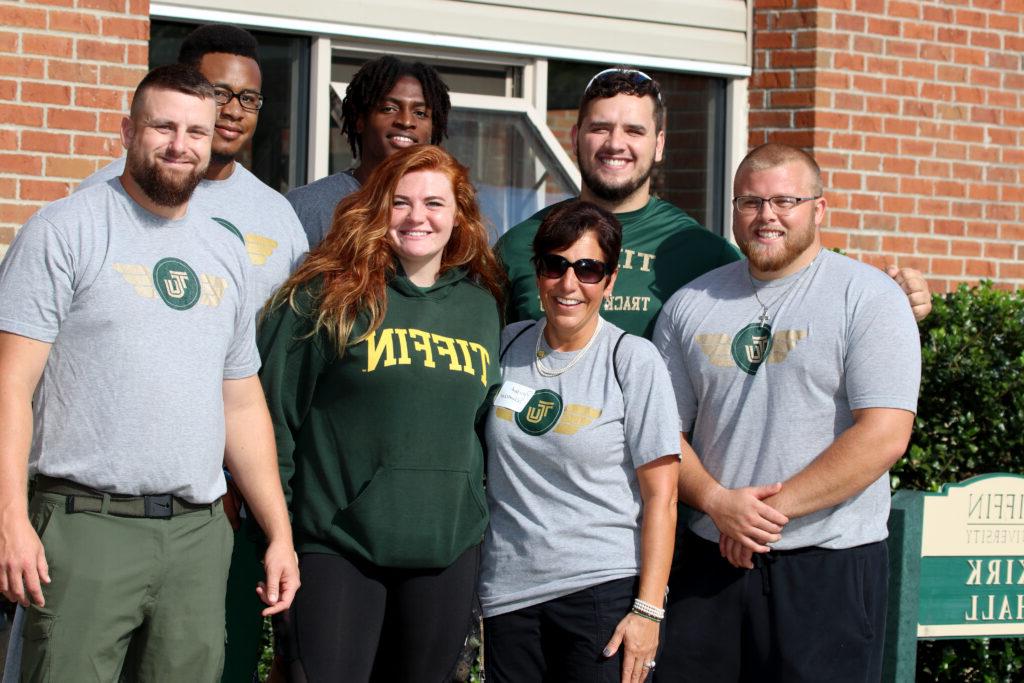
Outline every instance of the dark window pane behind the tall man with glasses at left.
<svg viewBox="0 0 1024 683">
<path fill-rule="evenodd" d="M 181 41 L 197 26 L 154 19 L 150 68 L 175 61 Z M 306 181 L 309 40 L 262 31 L 252 34 L 259 42 L 263 109 L 256 133 L 239 161 L 260 180 L 284 193 Z"/>
</svg>

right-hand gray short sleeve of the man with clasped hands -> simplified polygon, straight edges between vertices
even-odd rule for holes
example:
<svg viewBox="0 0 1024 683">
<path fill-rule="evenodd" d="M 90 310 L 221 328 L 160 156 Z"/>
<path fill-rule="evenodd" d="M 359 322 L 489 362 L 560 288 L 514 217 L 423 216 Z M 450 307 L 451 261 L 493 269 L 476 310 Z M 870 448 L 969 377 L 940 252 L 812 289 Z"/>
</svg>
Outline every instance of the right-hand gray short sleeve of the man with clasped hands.
<svg viewBox="0 0 1024 683">
<path fill-rule="evenodd" d="M 851 410 L 894 408 L 916 413 L 921 335 L 903 291 L 882 283 L 853 306 L 846 347 L 846 392 Z"/>
</svg>

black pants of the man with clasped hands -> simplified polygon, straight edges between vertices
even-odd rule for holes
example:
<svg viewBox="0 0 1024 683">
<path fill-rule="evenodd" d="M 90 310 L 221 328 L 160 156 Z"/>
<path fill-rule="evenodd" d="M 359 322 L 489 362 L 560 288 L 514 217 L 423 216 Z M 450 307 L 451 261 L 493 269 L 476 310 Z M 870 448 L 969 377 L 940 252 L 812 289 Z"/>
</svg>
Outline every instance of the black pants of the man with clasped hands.
<svg viewBox="0 0 1024 683">
<path fill-rule="evenodd" d="M 888 596 L 885 542 L 755 555 L 737 569 L 686 532 L 669 580 L 655 680 L 877 682 Z"/>
</svg>

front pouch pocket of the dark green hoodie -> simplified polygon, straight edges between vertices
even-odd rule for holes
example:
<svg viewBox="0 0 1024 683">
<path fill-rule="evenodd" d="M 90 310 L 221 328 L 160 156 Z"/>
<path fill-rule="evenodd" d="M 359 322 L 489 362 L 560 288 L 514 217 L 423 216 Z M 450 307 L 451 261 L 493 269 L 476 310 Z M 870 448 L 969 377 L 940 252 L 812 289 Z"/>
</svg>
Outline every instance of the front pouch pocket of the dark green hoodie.
<svg viewBox="0 0 1024 683">
<path fill-rule="evenodd" d="M 381 467 L 334 525 L 378 566 L 447 566 L 483 533 L 476 488 L 466 471 Z"/>
</svg>

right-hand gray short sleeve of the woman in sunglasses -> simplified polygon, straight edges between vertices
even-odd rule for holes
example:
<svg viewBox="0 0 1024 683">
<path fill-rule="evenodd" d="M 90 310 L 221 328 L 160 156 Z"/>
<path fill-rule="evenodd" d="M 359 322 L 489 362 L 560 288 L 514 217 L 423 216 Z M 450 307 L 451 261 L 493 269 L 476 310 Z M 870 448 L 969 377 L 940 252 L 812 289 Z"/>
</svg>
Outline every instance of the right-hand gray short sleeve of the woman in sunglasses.
<svg viewBox="0 0 1024 683">
<path fill-rule="evenodd" d="M 654 346 L 627 335 L 613 354 L 625 407 L 626 444 L 634 467 L 679 453 L 679 417 L 669 371 Z"/>
</svg>

